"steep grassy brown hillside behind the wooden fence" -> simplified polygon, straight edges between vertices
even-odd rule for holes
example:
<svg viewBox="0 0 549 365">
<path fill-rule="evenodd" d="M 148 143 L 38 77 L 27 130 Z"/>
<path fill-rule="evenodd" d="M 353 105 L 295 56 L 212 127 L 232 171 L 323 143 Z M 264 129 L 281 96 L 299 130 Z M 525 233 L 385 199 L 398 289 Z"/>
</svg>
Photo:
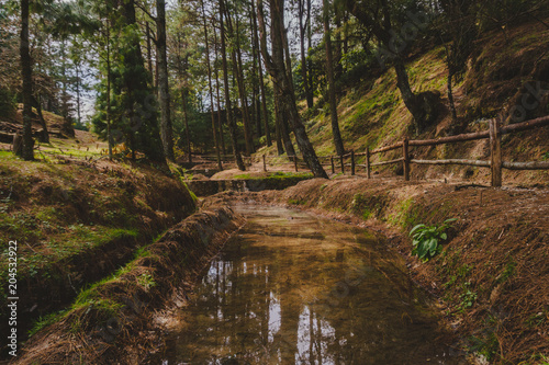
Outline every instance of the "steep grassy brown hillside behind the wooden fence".
<svg viewBox="0 0 549 365">
<path fill-rule="evenodd" d="M 549 113 L 549 54 L 540 39 L 549 36 L 549 30 L 540 23 L 527 23 L 512 30 L 493 31 L 477 43 L 478 52 L 469 59 L 468 69 L 453 95 L 459 117 L 458 133 L 488 129 L 488 119 L 503 113 L 505 124 L 522 122 Z M 429 52 L 416 52 L 406 65 L 410 82 L 415 92 L 436 91 L 441 96 L 442 111 L 438 121 L 425 133 L 415 136 L 412 116 L 396 88 L 394 69 L 381 76 L 372 70 L 343 90 L 338 116 L 345 148 L 363 152 L 401 141 L 405 136 L 427 139 L 448 135 L 451 116 L 447 98 L 447 67 L 442 46 L 429 47 Z M 538 95 L 531 93 L 538 91 Z M 304 106 L 304 104 L 301 104 Z M 309 134 L 320 156 L 335 155 L 332 140 L 329 107 L 325 105 L 316 115 L 305 112 Z M 523 113 L 526 111 L 526 113 Z M 549 129 L 541 128 L 507 137 L 503 141 L 504 160 L 540 161 L 549 159 Z M 489 158 L 488 141 L 469 141 L 439 147 L 419 147 L 411 151 L 421 159 Z M 276 148 L 262 148 L 258 155 L 276 155 Z M 389 152 L 383 160 L 401 157 Z M 380 156 L 372 161 L 380 161 Z M 362 163 L 362 160 L 359 160 Z M 402 174 L 400 164 L 380 170 L 382 174 Z M 490 181 L 489 171 L 463 167 L 412 168 L 413 179 L 468 179 L 474 182 Z M 547 172 L 504 171 L 504 181 L 540 183 L 547 181 Z"/>
</svg>

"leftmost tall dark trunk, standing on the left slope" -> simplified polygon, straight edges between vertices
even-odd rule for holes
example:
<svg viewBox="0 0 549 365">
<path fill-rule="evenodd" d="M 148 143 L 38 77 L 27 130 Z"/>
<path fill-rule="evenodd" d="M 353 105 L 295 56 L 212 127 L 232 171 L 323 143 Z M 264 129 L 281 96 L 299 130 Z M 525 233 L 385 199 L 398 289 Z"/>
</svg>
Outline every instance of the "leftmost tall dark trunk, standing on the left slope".
<svg viewBox="0 0 549 365">
<path fill-rule="evenodd" d="M 32 59 L 29 52 L 29 0 L 21 0 L 21 73 L 23 77 L 23 149 L 26 161 L 34 160 L 34 139 L 32 135 Z"/>
</svg>

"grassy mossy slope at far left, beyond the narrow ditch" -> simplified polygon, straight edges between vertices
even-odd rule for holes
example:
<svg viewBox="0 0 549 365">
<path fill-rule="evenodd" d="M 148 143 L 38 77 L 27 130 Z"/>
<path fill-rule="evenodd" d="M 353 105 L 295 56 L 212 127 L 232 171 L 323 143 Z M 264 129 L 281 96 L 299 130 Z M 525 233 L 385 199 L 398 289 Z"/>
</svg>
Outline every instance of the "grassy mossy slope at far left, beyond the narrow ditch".
<svg viewBox="0 0 549 365">
<path fill-rule="evenodd" d="M 7 263 L 9 241 L 18 241 L 19 339 L 194 209 L 179 179 L 145 163 L 26 162 L 2 152 L 0 252 Z M 0 267 L 7 288 L 8 265 Z M 2 334 L 7 297 L 2 290 Z"/>
</svg>

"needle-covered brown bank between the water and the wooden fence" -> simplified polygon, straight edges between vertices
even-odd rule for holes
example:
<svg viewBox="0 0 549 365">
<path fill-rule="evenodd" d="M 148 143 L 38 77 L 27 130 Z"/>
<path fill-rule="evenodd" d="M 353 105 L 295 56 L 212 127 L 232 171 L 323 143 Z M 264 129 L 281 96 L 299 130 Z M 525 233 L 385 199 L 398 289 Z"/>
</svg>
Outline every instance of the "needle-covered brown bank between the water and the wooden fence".
<svg viewBox="0 0 549 365">
<path fill-rule="evenodd" d="M 411 275 L 440 303 L 455 347 L 494 364 L 549 362 L 549 189 L 400 179 L 314 179 L 282 192 L 209 199 L 283 204 L 386 235 Z M 418 224 L 452 224 L 441 254 L 411 255 Z"/>
</svg>

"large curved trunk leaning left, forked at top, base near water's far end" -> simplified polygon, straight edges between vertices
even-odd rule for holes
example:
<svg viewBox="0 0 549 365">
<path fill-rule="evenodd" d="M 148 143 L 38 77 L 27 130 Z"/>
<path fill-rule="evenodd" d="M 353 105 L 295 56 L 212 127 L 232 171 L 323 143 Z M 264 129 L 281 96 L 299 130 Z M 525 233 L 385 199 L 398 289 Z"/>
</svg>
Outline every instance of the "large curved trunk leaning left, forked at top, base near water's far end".
<svg viewBox="0 0 549 365">
<path fill-rule="evenodd" d="M 267 48 L 267 38 L 266 38 L 266 28 L 265 21 L 262 14 L 262 0 L 258 0 L 258 20 L 259 20 L 259 30 L 261 34 L 261 53 L 264 55 L 265 62 L 267 65 L 267 69 L 269 73 L 272 76 L 274 83 L 278 84 L 280 90 L 282 91 L 282 103 L 287 112 L 289 113 L 289 117 L 292 121 L 293 133 L 295 135 L 295 140 L 298 141 L 298 146 L 300 147 L 301 153 L 303 155 L 303 159 L 305 163 L 309 166 L 311 171 L 316 178 L 326 178 L 327 174 L 324 171 L 322 164 L 318 162 L 318 158 L 316 157 L 316 152 L 309 140 L 309 136 L 305 132 L 305 126 L 301 121 L 300 113 L 298 112 L 298 106 L 295 104 L 295 94 L 293 91 L 293 87 L 288 78 L 288 72 L 284 66 L 283 59 L 283 9 L 284 1 L 283 0 L 270 0 L 271 4 L 271 23 L 273 24 L 273 31 L 271 34 L 272 37 L 272 50 L 274 55 L 274 49 L 277 49 L 277 57 L 270 58 L 269 52 Z"/>
</svg>

